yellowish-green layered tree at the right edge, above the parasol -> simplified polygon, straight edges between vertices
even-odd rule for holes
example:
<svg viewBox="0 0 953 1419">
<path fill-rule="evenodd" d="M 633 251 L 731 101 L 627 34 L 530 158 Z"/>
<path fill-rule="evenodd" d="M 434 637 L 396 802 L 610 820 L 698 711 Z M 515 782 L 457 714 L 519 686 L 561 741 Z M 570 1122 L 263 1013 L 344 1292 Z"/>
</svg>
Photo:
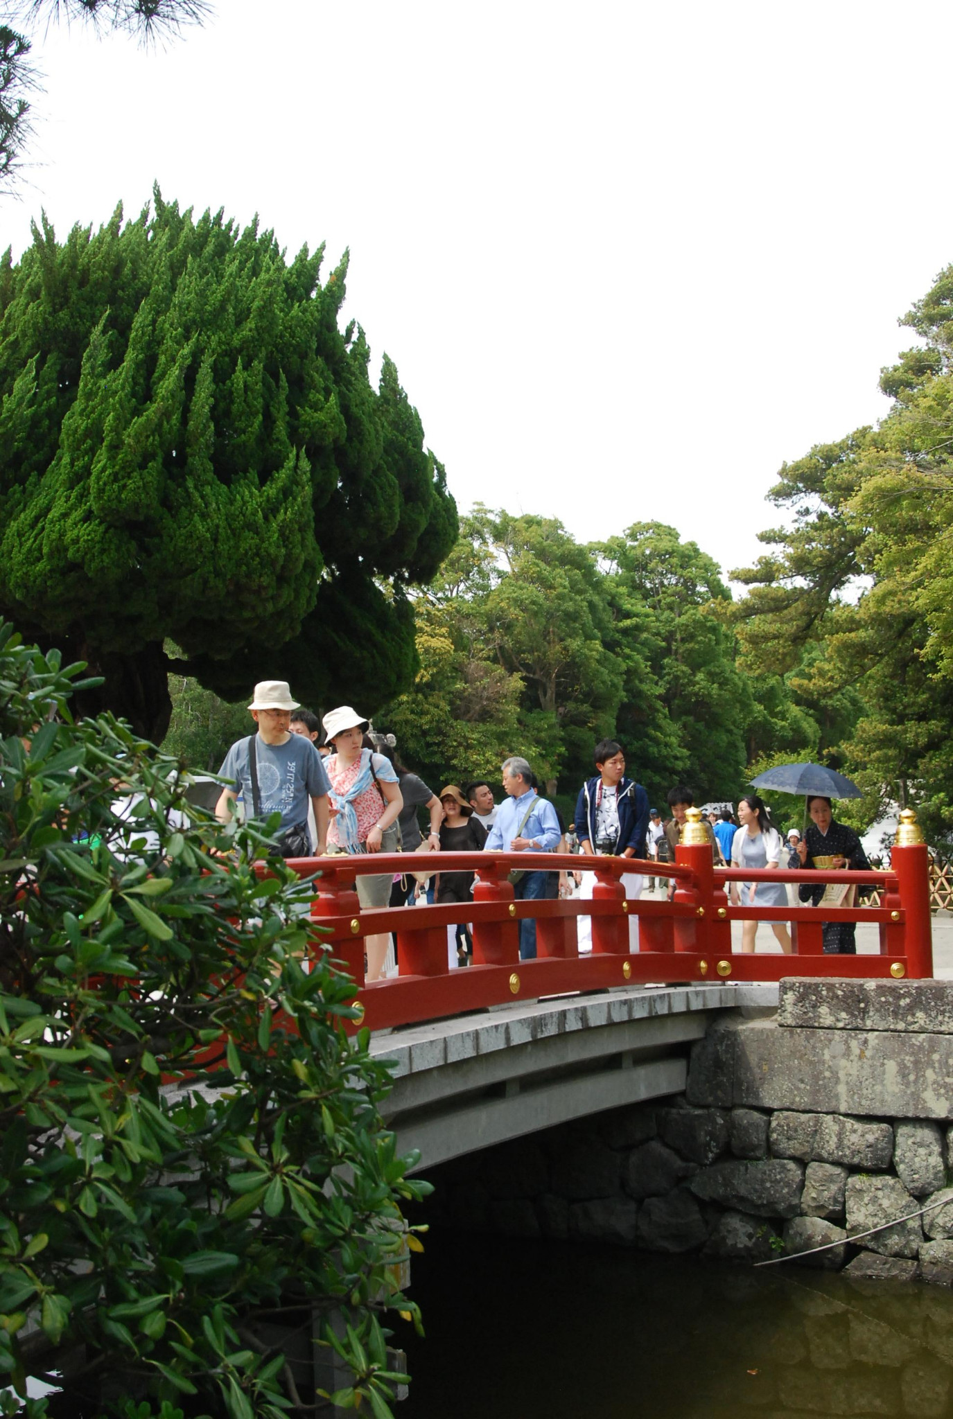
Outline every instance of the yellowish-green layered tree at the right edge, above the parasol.
<svg viewBox="0 0 953 1419">
<path fill-rule="evenodd" d="M 793 526 L 734 573 L 751 587 L 744 663 L 787 674 L 825 762 L 865 789 L 855 815 L 915 800 L 937 841 L 953 833 L 952 301 L 949 267 L 902 321 L 925 343 L 882 370 L 888 417 L 781 468 L 771 498 Z"/>
</svg>

